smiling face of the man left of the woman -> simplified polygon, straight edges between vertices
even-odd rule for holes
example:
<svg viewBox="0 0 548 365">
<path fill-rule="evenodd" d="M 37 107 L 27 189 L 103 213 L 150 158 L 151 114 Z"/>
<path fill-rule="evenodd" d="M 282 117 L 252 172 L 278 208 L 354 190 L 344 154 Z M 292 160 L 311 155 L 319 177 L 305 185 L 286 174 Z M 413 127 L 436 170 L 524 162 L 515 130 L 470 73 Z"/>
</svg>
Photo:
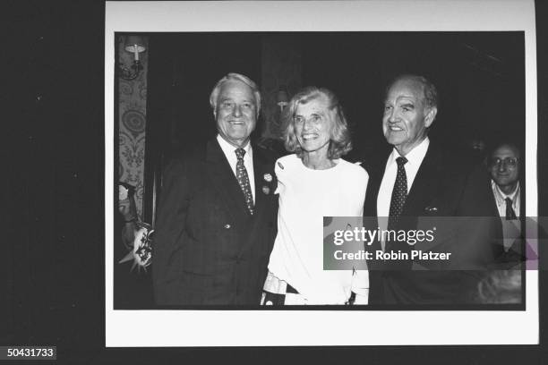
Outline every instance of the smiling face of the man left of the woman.
<svg viewBox="0 0 548 365">
<path fill-rule="evenodd" d="M 218 93 L 214 115 L 220 136 L 235 147 L 244 147 L 257 123 L 253 90 L 242 81 L 226 81 Z"/>
</svg>

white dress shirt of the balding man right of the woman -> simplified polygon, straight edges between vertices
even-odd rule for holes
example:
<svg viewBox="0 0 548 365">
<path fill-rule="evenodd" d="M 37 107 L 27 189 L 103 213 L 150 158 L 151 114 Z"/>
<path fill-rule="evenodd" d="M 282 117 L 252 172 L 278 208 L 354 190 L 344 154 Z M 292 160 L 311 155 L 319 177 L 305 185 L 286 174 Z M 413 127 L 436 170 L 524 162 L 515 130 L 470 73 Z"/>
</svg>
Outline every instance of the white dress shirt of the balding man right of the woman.
<svg viewBox="0 0 548 365">
<path fill-rule="evenodd" d="M 430 145 L 430 140 L 426 137 L 415 149 L 412 149 L 407 155 L 407 163 L 404 165 L 407 175 L 407 193 L 411 190 L 413 182 L 415 181 L 416 173 L 419 167 L 423 163 L 424 156 Z M 379 219 L 379 228 L 381 230 L 387 229 L 388 219 L 386 217 L 390 214 L 390 199 L 392 199 L 392 190 L 394 189 L 394 183 L 396 182 L 396 175 L 398 174 L 398 164 L 396 158 L 402 157 L 399 155 L 397 149 L 393 149 L 390 154 L 386 167 L 384 168 L 384 175 L 382 176 L 381 187 L 379 188 L 379 196 L 377 197 L 377 216 Z M 381 242 L 382 250 L 384 250 L 384 242 Z"/>
</svg>

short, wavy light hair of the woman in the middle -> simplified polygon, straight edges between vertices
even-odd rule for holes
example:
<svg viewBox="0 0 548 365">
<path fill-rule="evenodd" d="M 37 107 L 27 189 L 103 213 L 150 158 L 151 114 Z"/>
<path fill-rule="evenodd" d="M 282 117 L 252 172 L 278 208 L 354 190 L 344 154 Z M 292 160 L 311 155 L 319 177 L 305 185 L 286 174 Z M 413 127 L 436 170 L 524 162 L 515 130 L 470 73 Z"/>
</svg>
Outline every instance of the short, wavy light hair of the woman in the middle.
<svg viewBox="0 0 548 365">
<path fill-rule="evenodd" d="M 309 86 L 301 89 L 291 98 L 282 117 L 284 145 L 288 152 L 295 152 L 298 157 L 302 157 L 303 149 L 295 133 L 295 111 L 297 106 L 306 104 L 317 98 L 326 98 L 328 101 L 328 110 L 333 112 L 334 115 L 334 118 L 331 120 L 333 128 L 331 128 L 328 158 L 337 159 L 346 155 L 352 149 L 352 141 L 350 140 L 347 118 L 342 106 L 335 94 L 329 89 Z"/>
</svg>

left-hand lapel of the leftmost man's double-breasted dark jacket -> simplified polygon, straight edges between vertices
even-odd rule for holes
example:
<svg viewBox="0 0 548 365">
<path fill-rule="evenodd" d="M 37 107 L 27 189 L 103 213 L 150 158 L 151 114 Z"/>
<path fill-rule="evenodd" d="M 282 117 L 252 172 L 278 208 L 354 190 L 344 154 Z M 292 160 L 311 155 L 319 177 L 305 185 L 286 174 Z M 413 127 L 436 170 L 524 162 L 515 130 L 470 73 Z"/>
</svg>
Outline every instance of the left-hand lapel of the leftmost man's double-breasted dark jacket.
<svg viewBox="0 0 548 365">
<path fill-rule="evenodd" d="M 206 161 L 210 182 L 225 201 L 227 210 L 235 214 L 236 217 L 244 218 L 248 216 L 249 212 L 245 206 L 244 193 L 217 140 L 208 142 Z"/>
</svg>

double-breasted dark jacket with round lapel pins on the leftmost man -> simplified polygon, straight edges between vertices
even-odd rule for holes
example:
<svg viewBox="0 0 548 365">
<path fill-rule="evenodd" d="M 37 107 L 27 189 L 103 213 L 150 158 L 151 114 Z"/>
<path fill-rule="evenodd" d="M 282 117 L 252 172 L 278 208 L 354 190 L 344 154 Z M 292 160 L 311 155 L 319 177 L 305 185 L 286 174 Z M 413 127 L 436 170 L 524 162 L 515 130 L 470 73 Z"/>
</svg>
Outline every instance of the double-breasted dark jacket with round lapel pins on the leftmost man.
<svg viewBox="0 0 548 365">
<path fill-rule="evenodd" d="M 157 304 L 260 303 L 276 234 L 274 158 L 253 146 L 253 170 L 252 216 L 217 140 L 167 166 L 153 246 Z"/>
</svg>

